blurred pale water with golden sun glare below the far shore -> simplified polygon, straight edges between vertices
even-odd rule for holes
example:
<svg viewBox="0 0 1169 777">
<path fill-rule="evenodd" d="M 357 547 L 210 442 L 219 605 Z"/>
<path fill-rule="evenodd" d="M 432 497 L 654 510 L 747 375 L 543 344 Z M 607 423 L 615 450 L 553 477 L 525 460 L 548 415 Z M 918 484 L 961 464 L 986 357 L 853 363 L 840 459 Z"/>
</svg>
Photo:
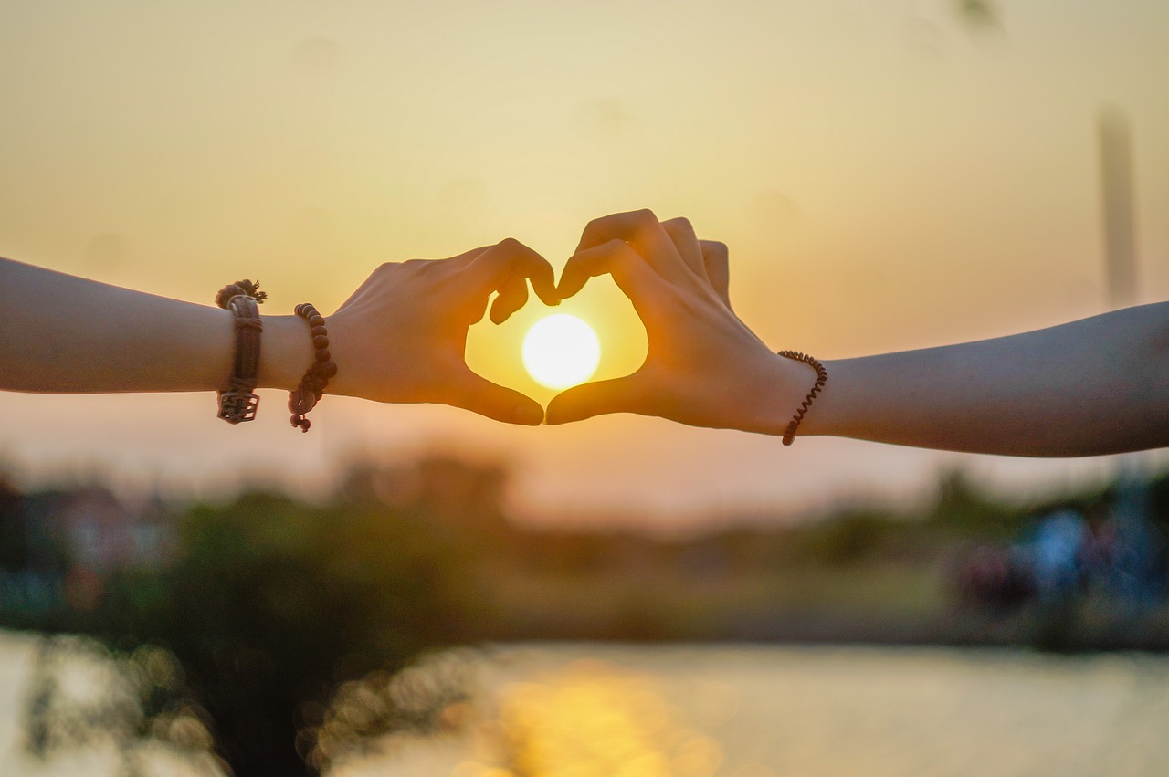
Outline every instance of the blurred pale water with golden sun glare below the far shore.
<svg viewBox="0 0 1169 777">
<path fill-rule="evenodd" d="M 2 772 L 112 773 L 101 754 L 19 756 L 28 654 L 0 637 Z M 1169 763 L 1167 657 L 581 644 L 461 655 L 472 701 L 447 710 L 448 734 L 386 737 L 332 773 L 1123 777 Z"/>
</svg>

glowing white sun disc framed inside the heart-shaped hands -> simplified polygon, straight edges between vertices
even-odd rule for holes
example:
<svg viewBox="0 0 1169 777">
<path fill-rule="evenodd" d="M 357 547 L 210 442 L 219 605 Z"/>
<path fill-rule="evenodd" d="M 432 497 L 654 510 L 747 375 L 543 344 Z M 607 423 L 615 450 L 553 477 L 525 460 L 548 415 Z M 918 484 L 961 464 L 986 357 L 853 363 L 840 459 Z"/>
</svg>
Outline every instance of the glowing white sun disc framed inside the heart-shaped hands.
<svg viewBox="0 0 1169 777">
<path fill-rule="evenodd" d="M 524 338 L 524 367 L 537 383 L 565 389 L 593 377 L 601 342 L 593 327 L 567 313 L 542 318 Z"/>
</svg>

